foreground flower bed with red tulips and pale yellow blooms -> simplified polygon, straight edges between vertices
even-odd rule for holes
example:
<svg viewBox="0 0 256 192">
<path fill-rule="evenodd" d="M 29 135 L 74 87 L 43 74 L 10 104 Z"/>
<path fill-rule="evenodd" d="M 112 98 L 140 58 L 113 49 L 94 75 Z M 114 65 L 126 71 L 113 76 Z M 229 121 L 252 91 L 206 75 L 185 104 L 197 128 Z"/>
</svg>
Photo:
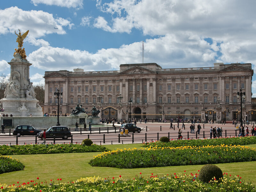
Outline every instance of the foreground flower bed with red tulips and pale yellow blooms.
<svg viewBox="0 0 256 192">
<path fill-rule="evenodd" d="M 186 172 L 185 172 L 186 173 Z M 0 184 L 1 191 L 24 191 L 24 192 L 44 192 L 44 191 L 212 191 L 212 192 L 255 192 L 255 186 L 251 183 L 246 183 L 241 180 L 239 175 L 229 176 L 228 173 L 223 173 L 222 180 L 214 178 L 209 183 L 203 183 L 198 180 L 198 174 L 172 174 L 159 176 L 156 174 L 151 177 L 143 178 L 142 174 L 135 176 L 133 179 L 124 180 L 121 175 L 117 178 L 100 178 L 87 177 L 76 181 L 62 183 L 58 179 L 57 183 L 53 180 L 40 182 L 39 178 L 30 182 L 19 183 L 13 185 Z"/>
</svg>

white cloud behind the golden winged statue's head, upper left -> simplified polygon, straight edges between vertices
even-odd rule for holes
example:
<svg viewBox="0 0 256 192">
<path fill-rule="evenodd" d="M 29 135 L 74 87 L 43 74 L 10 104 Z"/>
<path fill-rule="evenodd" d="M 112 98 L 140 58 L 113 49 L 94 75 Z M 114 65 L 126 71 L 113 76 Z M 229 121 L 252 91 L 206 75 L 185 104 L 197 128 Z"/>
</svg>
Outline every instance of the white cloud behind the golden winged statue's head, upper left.
<svg viewBox="0 0 256 192">
<path fill-rule="evenodd" d="M 28 36 L 24 41 L 34 45 L 49 44 L 43 39 L 36 40 L 36 38 L 52 33 L 65 34 L 66 31 L 63 27 L 72 28 L 73 25 L 69 20 L 60 17 L 53 18 L 52 14 L 43 11 L 23 11 L 18 7 L 0 10 L 0 35 L 14 33 L 15 30 L 17 32 L 17 29 L 24 33 L 29 29 Z"/>
</svg>

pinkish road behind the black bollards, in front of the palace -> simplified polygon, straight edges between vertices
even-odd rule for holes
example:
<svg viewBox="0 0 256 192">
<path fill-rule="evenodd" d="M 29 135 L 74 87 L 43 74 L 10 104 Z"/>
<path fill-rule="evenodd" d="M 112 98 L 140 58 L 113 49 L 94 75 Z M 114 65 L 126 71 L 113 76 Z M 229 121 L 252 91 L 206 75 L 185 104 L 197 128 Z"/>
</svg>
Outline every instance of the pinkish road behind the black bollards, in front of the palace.
<svg viewBox="0 0 256 192">
<path fill-rule="evenodd" d="M 84 131 L 82 128 L 82 134 L 79 132 L 71 132 L 73 135 L 73 138 L 68 138 L 67 140 L 63 139 L 56 139 L 55 143 L 81 143 L 84 139 L 87 139 L 88 137 L 93 141 L 95 144 L 118 144 L 120 143 L 142 143 L 145 141 L 155 141 L 160 139 L 162 136 L 169 137 L 170 139 L 177 139 L 178 138 L 178 127 L 177 123 L 173 123 L 175 126 L 174 129 L 170 129 L 170 123 L 141 123 L 137 124 L 138 127 L 143 128 L 143 130 L 140 133 L 135 132 L 134 134 L 129 133 L 128 136 L 122 136 L 119 137 L 119 128 L 116 128 L 116 133 L 114 130 L 110 130 L 107 133 L 107 130 L 101 130 L 99 131 L 92 131 L 92 134 L 90 134 L 89 131 Z M 195 124 L 197 127 L 197 124 Z M 236 128 L 232 124 L 201 124 L 202 129 L 200 130 L 200 134 L 196 134 L 197 128 L 195 129 L 195 133 L 190 133 L 189 129 L 190 124 L 185 123 L 185 130 L 184 128 L 182 130 L 182 136 L 183 139 L 195 139 L 196 136 L 199 139 L 210 138 L 210 127 L 211 126 L 220 126 L 223 129 L 222 136 L 225 137 L 227 133 L 227 137 L 230 136 L 238 136 L 238 130 L 236 131 Z M 182 123 L 179 125 L 179 127 L 182 127 Z M 251 130 L 252 125 L 248 125 L 249 130 Z M 80 128 L 79 128 L 80 129 Z M 8 144 L 8 145 L 15 145 L 16 144 L 16 136 L 12 135 L 11 130 L 11 136 L 9 136 L 9 130 L 5 130 L 6 134 L 0 134 L 0 144 Z M 250 133 L 251 135 L 251 133 Z M 105 140 L 104 140 L 105 138 Z M 120 139 L 119 139 L 120 138 Z M 105 142 L 104 142 L 105 141 Z M 24 144 L 40 144 L 42 140 L 37 138 L 35 136 L 20 136 L 18 137 L 18 144 L 24 145 Z M 54 143 L 53 139 L 46 139 L 46 143 Z M 119 143 L 119 144 L 120 144 Z"/>
</svg>

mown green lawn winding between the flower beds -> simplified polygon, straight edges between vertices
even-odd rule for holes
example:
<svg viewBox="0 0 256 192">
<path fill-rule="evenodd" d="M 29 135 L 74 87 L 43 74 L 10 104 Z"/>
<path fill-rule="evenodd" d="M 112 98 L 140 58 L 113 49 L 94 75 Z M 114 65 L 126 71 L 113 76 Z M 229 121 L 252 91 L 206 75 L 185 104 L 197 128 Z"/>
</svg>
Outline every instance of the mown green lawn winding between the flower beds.
<svg viewBox="0 0 256 192">
<path fill-rule="evenodd" d="M 109 149 L 116 148 L 140 148 L 141 144 L 119 144 L 119 145 L 107 145 Z M 250 145 L 256 147 L 256 144 Z M 51 179 L 57 181 L 58 178 L 62 179 L 62 182 L 68 182 L 79 179 L 81 177 L 100 176 L 106 177 L 118 177 L 122 175 L 124 179 L 134 178 L 136 174 L 142 173 L 142 176 L 151 176 L 151 173 L 173 174 L 184 173 L 187 174 L 198 173 L 203 165 L 188 165 L 188 166 L 172 166 L 172 167 L 154 167 L 154 168 L 139 168 L 139 169 L 119 169 L 109 167 L 92 167 L 88 164 L 90 159 L 96 153 L 69 153 L 69 154 L 43 154 L 43 155 L 14 155 L 16 159 L 19 159 L 24 165 L 24 171 L 4 173 L 0 175 L 0 182 L 11 185 L 13 183 L 28 182 L 30 180 L 36 180 L 39 177 L 40 181 Z M 216 164 L 221 168 L 223 172 L 228 172 L 231 175 L 239 175 L 244 180 L 250 180 L 256 183 L 256 161 L 254 162 L 242 162 L 242 163 L 228 163 L 228 164 Z"/>
</svg>

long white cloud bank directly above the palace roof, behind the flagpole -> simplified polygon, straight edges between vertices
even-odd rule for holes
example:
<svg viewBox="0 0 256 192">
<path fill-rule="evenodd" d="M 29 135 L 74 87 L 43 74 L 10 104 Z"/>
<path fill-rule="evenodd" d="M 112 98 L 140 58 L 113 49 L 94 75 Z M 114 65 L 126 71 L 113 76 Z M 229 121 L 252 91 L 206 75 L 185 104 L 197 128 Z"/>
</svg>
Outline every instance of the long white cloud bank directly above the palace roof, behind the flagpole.
<svg viewBox="0 0 256 192">
<path fill-rule="evenodd" d="M 189 43 L 186 43 L 189 42 Z M 161 57 L 159 57 L 161 55 Z M 144 63 L 156 62 L 163 68 L 212 66 L 216 52 L 209 43 L 191 34 L 170 35 L 144 42 Z M 28 55 L 34 67 L 43 70 L 83 68 L 86 71 L 119 70 L 124 63 L 142 63 L 142 42 L 119 48 L 100 49 L 96 53 L 58 47 L 41 47 Z"/>
</svg>

